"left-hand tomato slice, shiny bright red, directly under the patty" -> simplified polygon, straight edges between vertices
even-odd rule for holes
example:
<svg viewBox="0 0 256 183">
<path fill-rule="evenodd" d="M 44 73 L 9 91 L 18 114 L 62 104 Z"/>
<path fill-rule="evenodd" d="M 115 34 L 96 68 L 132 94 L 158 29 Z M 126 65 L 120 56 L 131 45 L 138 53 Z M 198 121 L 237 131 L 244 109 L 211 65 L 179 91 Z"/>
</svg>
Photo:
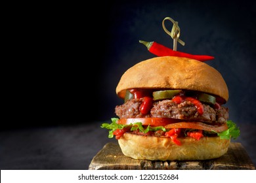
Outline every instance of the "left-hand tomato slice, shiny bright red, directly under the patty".
<svg viewBox="0 0 256 183">
<path fill-rule="evenodd" d="M 181 120 L 171 118 L 126 118 L 118 120 L 117 124 L 129 125 L 139 122 L 142 123 L 142 125 L 151 125 L 152 127 L 156 127 L 181 122 Z"/>
</svg>

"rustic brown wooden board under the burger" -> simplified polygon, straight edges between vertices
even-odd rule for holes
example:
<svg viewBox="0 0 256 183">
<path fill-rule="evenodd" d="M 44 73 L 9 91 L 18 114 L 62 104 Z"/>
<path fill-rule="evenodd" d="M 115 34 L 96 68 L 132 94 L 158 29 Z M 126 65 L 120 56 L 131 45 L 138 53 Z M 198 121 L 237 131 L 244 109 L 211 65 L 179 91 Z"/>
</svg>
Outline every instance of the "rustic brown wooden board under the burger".
<svg viewBox="0 0 256 183">
<path fill-rule="evenodd" d="M 149 161 L 123 155 L 119 144 L 110 142 L 92 159 L 89 170 L 226 170 L 253 169 L 255 167 L 241 143 L 231 142 L 228 152 L 221 158 L 203 161 Z"/>
</svg>

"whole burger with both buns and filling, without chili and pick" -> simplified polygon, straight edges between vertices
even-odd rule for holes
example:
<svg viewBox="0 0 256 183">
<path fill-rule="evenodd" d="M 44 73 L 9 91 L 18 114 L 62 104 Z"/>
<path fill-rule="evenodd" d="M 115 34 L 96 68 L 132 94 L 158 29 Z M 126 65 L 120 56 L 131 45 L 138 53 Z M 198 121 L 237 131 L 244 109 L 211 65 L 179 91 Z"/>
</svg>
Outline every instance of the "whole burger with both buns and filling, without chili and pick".
<svg viewBox="0 0 256 183">
<path fill-rule="evenodd" d="M 129 68 L 116 94 L 124 103 L 104 123 L 125 156 L 161 161 L 223 156 L 240 135 L 228 120 L 228 87 L 219 71 L 196 59 L 160 56 Z"/>
</svg>

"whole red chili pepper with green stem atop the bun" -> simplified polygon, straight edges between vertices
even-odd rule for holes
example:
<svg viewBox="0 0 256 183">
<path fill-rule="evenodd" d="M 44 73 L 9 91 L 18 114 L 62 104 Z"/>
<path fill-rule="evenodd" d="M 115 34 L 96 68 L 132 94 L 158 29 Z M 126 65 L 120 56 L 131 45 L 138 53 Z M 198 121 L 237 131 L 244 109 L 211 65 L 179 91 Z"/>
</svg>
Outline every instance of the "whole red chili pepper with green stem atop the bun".
<svg viewBox="0 0 256 183">
<path fill-rule="evenodd" d="M 214 59 L 213 56 L 192 55 L 184 52 L 178 52 L 178 51 L 172 50 L 171 48 L 167 48 L 166 46 L 163 46 L 162 44 L 159 44 L 158 42 L 154 42 L 154 41 L 152 42 L 139 41 L 139 42 L 144 44 L 152 54 L 155 54 L 156 56 L 159 56 L 159 57 L 177 56 L 177 57 L 197 59 L 199 61 L 207 61 L 210 59 Z"/>
</svg>

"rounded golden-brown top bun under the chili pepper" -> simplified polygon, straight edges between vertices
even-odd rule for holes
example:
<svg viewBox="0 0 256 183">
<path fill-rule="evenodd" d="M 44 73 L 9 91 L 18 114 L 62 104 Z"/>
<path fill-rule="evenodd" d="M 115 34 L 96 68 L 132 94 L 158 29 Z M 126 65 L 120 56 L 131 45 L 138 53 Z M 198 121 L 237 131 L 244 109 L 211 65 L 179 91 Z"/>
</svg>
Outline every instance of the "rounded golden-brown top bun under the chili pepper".
<svg viewBox="0 0 256 183">
<path fill-rule="evenodd" d="M 219 71 L 196 59 L 163 56 L 140 61 L 123 74 L 116 87 L 124 99 L 132 88 L 183 89 L 209 93 L 228 101 L 228 87 Z"/>
</svg>

